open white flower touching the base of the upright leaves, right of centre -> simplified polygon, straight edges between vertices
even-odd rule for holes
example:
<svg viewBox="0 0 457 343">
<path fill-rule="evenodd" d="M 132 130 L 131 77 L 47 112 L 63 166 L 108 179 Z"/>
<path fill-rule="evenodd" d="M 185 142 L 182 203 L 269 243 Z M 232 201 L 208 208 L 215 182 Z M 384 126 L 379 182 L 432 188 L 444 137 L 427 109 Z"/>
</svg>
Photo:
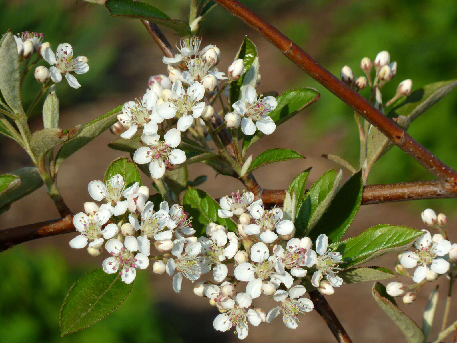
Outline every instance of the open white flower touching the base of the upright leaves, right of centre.
<svg viewBox="0 0 457 343">
<path fill-rule="evenodd" d="M 291 220 L 282 219 L 282 209 L 277 207 L 265 210 L 259 204 L 253 204 L 250 213 L 255 221 L 255 224 L 244 225 L 243 231 L 247 235 L 258 235 L 265 243 L 272 243 L 276 241 L 278 235 L 288 235 L 294 229 Z"/>
</svg>

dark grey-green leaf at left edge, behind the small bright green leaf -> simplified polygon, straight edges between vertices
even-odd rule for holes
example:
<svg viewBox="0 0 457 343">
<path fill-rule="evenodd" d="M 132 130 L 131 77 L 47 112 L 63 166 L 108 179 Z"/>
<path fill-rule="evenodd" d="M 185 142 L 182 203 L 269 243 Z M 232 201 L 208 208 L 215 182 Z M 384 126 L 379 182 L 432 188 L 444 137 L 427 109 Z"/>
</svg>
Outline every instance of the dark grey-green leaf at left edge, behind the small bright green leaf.
<svg viewBox="0 0 457 343">
<path fill-rule="evenodd" d="M 25 167 L 9 172 L 7 178 L 19 177 L 21 184 L 15 184 L 15 187 L 3 188 L 0 193 L 0 208 L 9 206 L 12 202 L 25 197 L 43 185 L 43 179 L 35 167 Z M 13 182 L 15 182 L 13 180 Z M 17 181 L 16 181 L 17 182 Z"/>
</svg>

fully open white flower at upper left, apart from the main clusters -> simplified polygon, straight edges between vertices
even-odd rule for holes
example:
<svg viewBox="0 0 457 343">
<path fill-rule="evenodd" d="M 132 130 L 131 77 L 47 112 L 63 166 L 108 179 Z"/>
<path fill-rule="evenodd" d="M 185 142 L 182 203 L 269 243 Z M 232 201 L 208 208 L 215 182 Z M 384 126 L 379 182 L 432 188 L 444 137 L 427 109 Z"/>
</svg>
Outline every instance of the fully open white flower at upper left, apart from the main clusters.
<svg viewBox="0 0 457 343">
<path fill-rule="evenodd" d="M 78 80 L 70 73 L 87 73 L 89 71 L 89 65 L 84 59 L 80 59 L 79 56 L 73 58 L 73 48 L 69 43 L 59 44 L 56 54 L 49 47 L 44 49 L 41 54 L 46 62 L 51 65 L 55 64 L 55 66 L 53 65 L 49 68 L 53 82 L 62 81 L 62 74 L 64 74 L 70 87 L 79 88 L 81 86 Z"/>
</svg>

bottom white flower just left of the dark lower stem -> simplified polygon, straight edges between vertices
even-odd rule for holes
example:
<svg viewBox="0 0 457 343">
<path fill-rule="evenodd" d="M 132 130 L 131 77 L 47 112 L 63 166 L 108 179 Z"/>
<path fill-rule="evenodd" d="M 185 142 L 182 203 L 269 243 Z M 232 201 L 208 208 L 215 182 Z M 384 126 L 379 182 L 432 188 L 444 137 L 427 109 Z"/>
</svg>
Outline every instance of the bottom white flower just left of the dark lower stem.
<svg viewBox="0 0 457 343">
<path fill-rule="evenodd" d="M 273 295 L 273 299 L 280 301 L 281 305 L 276 306 L 266 316 L 266 321 L 271 322 L 279 312 L 282 311 L 282 321 L 287 327 L 296 329 L 298 327 L 299 320 L 297 318 L 298 313 L 304 313 L 313 311 L 314 304 L 308 298 L 299 298 L 305 294 L 306 289 L 302 285 L 298 285 L 289 289 L 288 292 L 282 289 L 278 289 Z"/>
</svg>

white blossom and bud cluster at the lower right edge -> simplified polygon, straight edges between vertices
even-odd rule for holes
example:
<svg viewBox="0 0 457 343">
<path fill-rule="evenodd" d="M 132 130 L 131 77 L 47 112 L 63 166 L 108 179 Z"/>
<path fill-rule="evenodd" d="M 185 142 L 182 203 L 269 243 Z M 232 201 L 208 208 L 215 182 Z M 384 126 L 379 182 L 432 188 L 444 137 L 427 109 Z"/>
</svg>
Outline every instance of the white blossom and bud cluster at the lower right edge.
<svg viewBox="0 0 457 343">
<path fill-rule="evenodd" d="M 421 213 L 421 218 L 424 224 L 435 228 L 439 233 L 432 236 L 428 230 L 422 230 L 424 234 L 414 242 L 416 249 L 399 254 L 400 263 L 395 268 L 397 273 L 410 277 L 415 284 L 407 285 L 402 281 L 393 281 L 386 287 L 391 296 L 403 295 L 403 301 L 407 304 L 414 302 L 421 285 L 436 281 L 440 274 L 449 272 L 457 262 L 457 243 L 451 244 L 445 239 L 446 215 L 436 215 L 433 209 L 425 209 Z M 409 274 L 406 268 L 415 268 L 413 275 Z"/>
</svg>

